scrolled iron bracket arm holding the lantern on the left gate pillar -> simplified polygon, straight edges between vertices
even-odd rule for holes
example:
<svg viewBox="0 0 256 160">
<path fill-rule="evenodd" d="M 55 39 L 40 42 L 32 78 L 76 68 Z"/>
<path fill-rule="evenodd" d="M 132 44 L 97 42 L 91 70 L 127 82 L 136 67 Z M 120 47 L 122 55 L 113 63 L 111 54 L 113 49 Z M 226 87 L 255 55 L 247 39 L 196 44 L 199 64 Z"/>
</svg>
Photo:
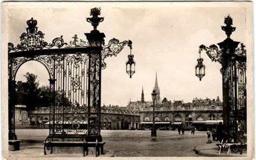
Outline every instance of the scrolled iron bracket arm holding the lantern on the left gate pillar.
<svg viewBox="0 0 256 160">
<path fill-rule="evenodd" d="M 102 44 L 102 69 L 106 68 L 106 63 L 104 62 L 105 58 L 117 56 L 117 54 L 123 50 L 125 45 L 129 46 L 130 49 L 132 49 L 131 40 L 124 40 L 120 42 L 118 39 L 113 38 L 109 41 L 109 44 Z"/>
</svg>

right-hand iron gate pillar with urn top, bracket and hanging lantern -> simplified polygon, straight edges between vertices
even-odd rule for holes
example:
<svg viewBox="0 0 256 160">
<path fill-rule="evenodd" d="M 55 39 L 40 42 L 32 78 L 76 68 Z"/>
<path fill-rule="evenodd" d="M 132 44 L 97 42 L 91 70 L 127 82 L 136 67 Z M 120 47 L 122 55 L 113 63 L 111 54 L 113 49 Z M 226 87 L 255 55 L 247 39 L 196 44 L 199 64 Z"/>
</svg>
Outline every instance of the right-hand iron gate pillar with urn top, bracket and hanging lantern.
<svg viewBox="0 0 256 160">
<path fill-rule="evenodd" d="M 246 149 L 246 50 L 245 45 L 239 41 L 234 41 L 230 35 L 235 31 L 233 27 L 233 19 L 228 15 L 225 17 L 226 26 L 221 26 L 225 31 L 227 38 L 217 45 L 199 46 L 199 53 L 206 51 L 208 57 L 215 62 L 219 62 L 222 66 L 220 73 L 223 75 L 223 122 L 224 122 L 224 140 L 228 142 L 239 143 L 240 154 Z M 240 47 L 238 45 L 240 44 Z M 198 63 L 203 60 L 198 59 Z M 199 79 L 204 75 L 201 73 L 199 64 Z M 201 67 L 202 68 L 202 67 Z M 197 69 L 197 67 L 196 67 Z M 204 69 L 203 69 L 204 70 Z M 202 74 L 204 73 L 204 74 Z M 232 141 L 233 140 L 233 141 Z"/>
</svg>

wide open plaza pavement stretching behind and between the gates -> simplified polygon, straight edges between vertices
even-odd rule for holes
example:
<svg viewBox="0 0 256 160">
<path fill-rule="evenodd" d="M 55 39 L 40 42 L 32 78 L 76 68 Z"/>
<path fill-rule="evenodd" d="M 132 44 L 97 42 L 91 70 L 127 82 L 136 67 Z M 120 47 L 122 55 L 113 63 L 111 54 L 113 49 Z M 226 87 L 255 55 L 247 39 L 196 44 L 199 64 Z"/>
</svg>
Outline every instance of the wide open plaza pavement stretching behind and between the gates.
<svg viewBox="0 0 256 160">
<path fill-rule="evenodd" d="M 70 154 L 43 155 L 43 142 L 48 136 L 48 129 L 16 129 L 18 140 L 21 140 L 19 151 L 9 151 L 9 157 L 82 157 Z M 199 157 L 194 148 L 201 154 L 215 151 L 215 143 L 206 144 L 205 131 L 196 131 L 191 135 L 190 131 L 178 134 L 178 131 L 157 131 L 157 137 L 151 137 L 150 130 L 102 130 L 101 135 L 105 155 L 100 157 Z M 215 141 L 213 141 L 215 142 Z M 214 156 L 214 155 L 212 155 Z M 94 155 L 89 155 L 94 157 Z"/>
</svg>

